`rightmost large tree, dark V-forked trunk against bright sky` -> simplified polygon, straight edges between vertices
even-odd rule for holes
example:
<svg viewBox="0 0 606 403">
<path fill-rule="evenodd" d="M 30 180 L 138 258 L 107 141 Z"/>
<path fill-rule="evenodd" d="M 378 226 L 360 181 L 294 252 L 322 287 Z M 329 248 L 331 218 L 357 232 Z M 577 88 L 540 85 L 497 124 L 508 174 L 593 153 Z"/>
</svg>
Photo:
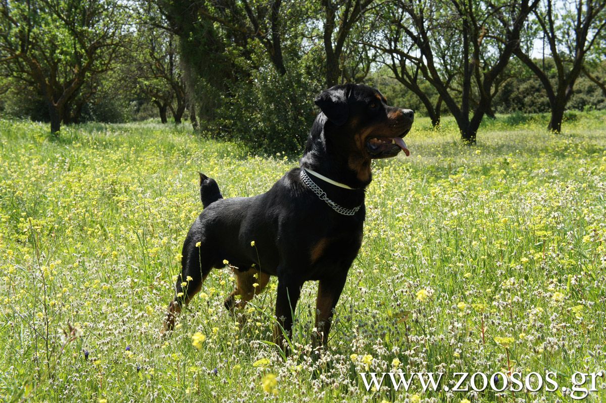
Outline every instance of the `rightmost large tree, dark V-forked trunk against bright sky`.
<svg viewBox="0 0 606 403">
<path fill-rule="evenodd" d="M 552 82 L 541 64 L 532 59 L 521 45 L 515 55 L 541 80 L 547 91 L 551 108 L 548 129 L 559 133 L 564 110 L 573 94 L 574 83 L 583 70 L 585 56 L 606 28 L 606 0 L 578 0 L 557 2 L 545 0 L 534 10 L 534 18 L 541 27 L 556 67 L 556 80 Z M 530 48 L 528 46 L 527 48 Z"/>
</svg>

